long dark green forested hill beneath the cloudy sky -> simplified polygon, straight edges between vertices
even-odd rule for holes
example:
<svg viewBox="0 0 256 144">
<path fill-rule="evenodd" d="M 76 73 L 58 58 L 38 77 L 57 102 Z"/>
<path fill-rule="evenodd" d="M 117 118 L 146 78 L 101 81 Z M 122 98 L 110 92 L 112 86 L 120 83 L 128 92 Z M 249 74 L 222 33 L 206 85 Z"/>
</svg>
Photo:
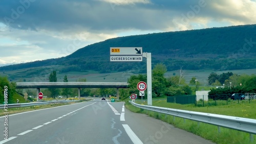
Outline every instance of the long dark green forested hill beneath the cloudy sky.
<svg viewBox="0 0 256 144">
<path fill-rule="evenodd" d="M 256 25 L 153 33 L 108 39 L 85 46 L 58 59 L 0 67 L 0 70 L 65 65 L 61 72 L 96 70 L 101 73 L 140 69 L 145 62 L 110 62 L 110 47 L 143 47 L 152 53 L 152 63 L 162 62 L 168 70 L 256 68 Z"/>
</svg>

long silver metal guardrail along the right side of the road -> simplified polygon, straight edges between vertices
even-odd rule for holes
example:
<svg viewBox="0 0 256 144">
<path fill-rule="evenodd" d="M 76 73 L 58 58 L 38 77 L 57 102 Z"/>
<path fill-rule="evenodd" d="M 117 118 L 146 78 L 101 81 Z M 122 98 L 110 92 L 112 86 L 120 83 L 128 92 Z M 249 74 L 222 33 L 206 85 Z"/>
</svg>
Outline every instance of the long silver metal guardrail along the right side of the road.
<svg viewBox="0 0 256 144">
<path fill-rule="evenodd" d="M 146 110 L 178 116 L 186 119 L 191 119 L 193 121 L 207 123 L 211 125 L 229 128 L 229 129 L 248 132 L 250 134 L 256 134 L 256 119 L 179 110 L 179 109 L 172 109 L 172 108 L 139 105 L 131 101 L 130 103 L 138 108 L 142 108 Z"/>
</svg>

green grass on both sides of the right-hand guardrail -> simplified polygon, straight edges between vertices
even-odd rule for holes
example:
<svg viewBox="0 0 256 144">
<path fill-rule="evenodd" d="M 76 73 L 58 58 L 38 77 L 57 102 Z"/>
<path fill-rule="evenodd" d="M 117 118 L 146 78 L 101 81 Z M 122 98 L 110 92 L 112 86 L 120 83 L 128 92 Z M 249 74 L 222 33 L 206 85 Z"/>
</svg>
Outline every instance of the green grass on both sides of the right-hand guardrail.
<svg viewBox="0 0 256 144">
<path fill-rule="evenodd" d="M 139 103 L 140 104 L 140 103 Z M 143 103 L 146 105 L 146 103 Z M 168 107 L 174 109 L 183 109 L 189 111 L 199 111 L 207 113 L 216 113 L 223 115 L 232 115 L 238 117 L 247 117 L 256 119 L 255 107 L 256 102 L 250 104 L 230 104 L 211 107 L 195 107 L 195 105 L 180 105 L 166 103 L 166 101 L 153 101 L 153 106 Z M 220 127 L 220 133 L 217 126 L 198 123 L 189 119 L 180 118 L 177 116 L 161 114 L 153 111 L 147 111 L 133 106 L 130 103 L 125 103 L 125 107 L 133 112 L 144 113 L 149 116 L 161 119 L 162 121 L 172 124 L 173 126 L 186 130 L 188 132 L 199 135 L 205 139 L 216 143 L 256 143 L 256 135 L 253 135 L 254 141 L 250 141 L 250 134 Z"/>
</svg>

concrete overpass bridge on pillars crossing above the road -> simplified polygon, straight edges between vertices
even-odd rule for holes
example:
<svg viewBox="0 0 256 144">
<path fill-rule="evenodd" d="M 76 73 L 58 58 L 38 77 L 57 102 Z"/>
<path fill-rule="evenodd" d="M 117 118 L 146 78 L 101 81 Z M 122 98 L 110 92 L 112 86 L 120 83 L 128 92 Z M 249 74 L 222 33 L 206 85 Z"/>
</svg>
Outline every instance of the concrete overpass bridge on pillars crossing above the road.
<svg viewBox="0 0 256 144">
<path fill-rule="evenodd" d="M 119 88 L 128 88 L 125 82 L 17 82 L 16 88 L 36 88 L 37 96 L 40 88 L 78 88 L 78 98 L 80 99 L 80 88 L 116 88 L 117 99 L 119 99 Z M 37 101 L 39 101 L 37 97 Z"/>
</svg>

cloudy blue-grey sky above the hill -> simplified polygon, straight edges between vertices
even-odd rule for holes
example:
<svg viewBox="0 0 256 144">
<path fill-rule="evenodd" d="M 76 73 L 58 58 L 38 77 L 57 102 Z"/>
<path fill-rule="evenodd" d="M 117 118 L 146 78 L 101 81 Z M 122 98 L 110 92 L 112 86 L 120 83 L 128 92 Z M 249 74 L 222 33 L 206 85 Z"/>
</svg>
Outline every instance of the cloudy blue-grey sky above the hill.
<svg viewBox="0 0 256 144">
<path fill-rule="evenodd" d="M 256 24 L 256 0 L 0 0 L 0 66 L 109 38 Z"/>
</svg>

